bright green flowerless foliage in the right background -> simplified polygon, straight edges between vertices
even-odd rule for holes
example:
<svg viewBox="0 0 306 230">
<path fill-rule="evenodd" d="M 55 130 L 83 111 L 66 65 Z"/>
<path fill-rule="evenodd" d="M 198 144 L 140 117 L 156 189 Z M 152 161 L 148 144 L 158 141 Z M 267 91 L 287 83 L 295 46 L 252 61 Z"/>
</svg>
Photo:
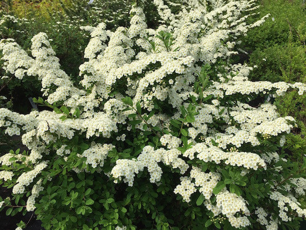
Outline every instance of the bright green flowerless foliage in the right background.
<svg viewBox="0 0 306 230">
<path fill-rule="evenodd" d="M 250 30 L 243 40 L 249 52 L 248 63 L 257 67 L 250 73 L 254 81 L 306 82 L 306 15 L 303 1 L 262 1 L 266 22 Z M 285 151 L 292 160 L 302 163 L 306 152 L 306 97 L 292 91 L 275 99 L 281 116 L 296 118 L 298 128 L 286 137 Z M 304 200 L 302 198 L 301 200 Z"/>
</svg>

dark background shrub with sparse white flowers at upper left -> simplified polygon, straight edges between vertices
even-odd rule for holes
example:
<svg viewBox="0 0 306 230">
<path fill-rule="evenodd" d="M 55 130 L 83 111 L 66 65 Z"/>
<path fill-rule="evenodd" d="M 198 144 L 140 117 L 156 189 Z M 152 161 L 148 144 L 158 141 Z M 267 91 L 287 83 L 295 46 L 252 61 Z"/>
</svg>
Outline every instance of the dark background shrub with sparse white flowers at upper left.
<svg viewBox="0 0 306 230">
<path fill-rule="evenodd" d="M 33 3 L 32 1 L 30 1 Z M 80 30 L 80 26 L 96 26 L 104 21 L 107 29 L 114 30 L 117 25 L 129 25 L 129 11 L 132 7 L 131 1 L 98 1 L 88 5 L 88 1 L 53 1 L 52 5 L 64 6 L 64 12 L 50 11 L 48 17 L 45 16 L 44 4 L 50 4 L 48 1 L 35 3 L 39 8 L 32 9 L 31 4 L 21 1 L 12 4 L 12 11 L 9 14 L 0 8 L 0 36 L 2 38 L 13 38 L 20 47 L 27 51 L 31 48 L 31 39 L 37 33 L 44 31 L 57 57 L 60 59 L 61 68 L 71 75 L 72 81 L 80 81 L 79 65 L 83 63 L 84 49 L 89 42 L 90 34 L 85 30 Z M 67 4 L 67 2 L 69 2 Z M 57 3 L 57 4 L 56 4 Z M 72 4 L 73 3 L 73 4 Z M 29 15 L 34 17 L 18 18 L 18 12 L 14 10 L 18 4 L 22 5 Z M 65 4 L 65 5 L 64 5 Z M 147 3 L 146 3 L 147 4 Z M 24 6 L 23 6 L 24 5 Z M 146 11 L 152 10 L 152 3 L 146 5 Z M 157 21 L 148 14 L 150 24 Z M 13 16 L 14 15 L 14 16 Z M 40 15 L 40 16 L 38 16 Z M 157 23 L 157 22 L 156 22 Z M 2 65 L 2 63 L 0 62 Z M 22 79 L 8 77 L 3 71 L 0 72 L 0 92 L 6 96 L 7 101 L 12 101 L 14 110 L 21 113 L 28 113 L 30 109 L 29 97 L 40 97 L 41 84 L 36 78 L 24 77 Z M 1 148 L 0 148 L 1 149 Z"/>
</svg>

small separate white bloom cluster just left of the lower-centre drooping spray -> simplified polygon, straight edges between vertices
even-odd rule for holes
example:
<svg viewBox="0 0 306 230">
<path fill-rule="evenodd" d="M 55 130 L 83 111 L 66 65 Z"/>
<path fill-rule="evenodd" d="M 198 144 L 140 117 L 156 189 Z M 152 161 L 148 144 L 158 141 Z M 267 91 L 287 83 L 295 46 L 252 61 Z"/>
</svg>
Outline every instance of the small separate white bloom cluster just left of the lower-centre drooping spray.
<svg viewBox="0 0 306 230">
<path fill-rule="evenodd" d="M 101 145 L 93 142 L 91 147 L 83 152 L 82 156 L 87 158 L 86 164 L 91 165 L 92 168 L 96 168 L 97 165 L 103 167 L 108 152 L 114 147 L 112 144 Z"/>
</svg>

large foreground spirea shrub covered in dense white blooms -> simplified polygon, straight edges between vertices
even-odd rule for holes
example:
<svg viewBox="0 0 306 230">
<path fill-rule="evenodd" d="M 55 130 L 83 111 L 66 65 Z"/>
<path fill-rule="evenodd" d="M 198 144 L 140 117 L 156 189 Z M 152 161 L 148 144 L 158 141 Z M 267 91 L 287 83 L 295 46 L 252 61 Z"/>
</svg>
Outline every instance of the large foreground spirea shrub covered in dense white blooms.
<svg viewBox="0 0 306 230">
<path fill-rule="evenodd" d="M 228 64 L 256 1 L 143 3 L 130 27 L 100 23 L 80 82 L 60 68 L 48 37 L 32 55 L 2 40 L 4 70 L 41 81 L 45 110 L 0 109 L 0 126 L 28 151 L 0 158 L 7 215 L 35 211 L 46 229 L 297 228 L 305 217 L 304 163 L 282 150 L 296 125 L 258 97 L 306 85 L 252 82 L 252 67 Z M 177 13 L 175 9 L 181 10 Z M 24 227 L 21 222 L 18 227 Z"/>
</svg>

